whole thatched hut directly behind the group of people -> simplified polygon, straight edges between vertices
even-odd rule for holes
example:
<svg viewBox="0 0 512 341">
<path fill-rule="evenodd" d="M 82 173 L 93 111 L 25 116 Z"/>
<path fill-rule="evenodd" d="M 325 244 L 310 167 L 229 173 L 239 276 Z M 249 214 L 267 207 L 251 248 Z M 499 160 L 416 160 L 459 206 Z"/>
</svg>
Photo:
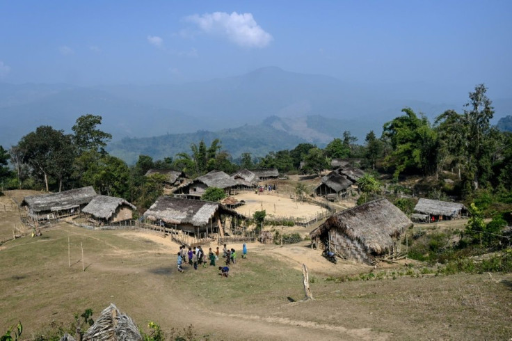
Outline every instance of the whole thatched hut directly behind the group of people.
<svg viewBox="0 0 512 341">
<path fill-rule="evenodd" d="M 219 203 L 161 196 L 143 216 L 145 219 L 189 232 L 195 237 L 222 229 L 221 215 L 242 216 Z"/>
</svg>

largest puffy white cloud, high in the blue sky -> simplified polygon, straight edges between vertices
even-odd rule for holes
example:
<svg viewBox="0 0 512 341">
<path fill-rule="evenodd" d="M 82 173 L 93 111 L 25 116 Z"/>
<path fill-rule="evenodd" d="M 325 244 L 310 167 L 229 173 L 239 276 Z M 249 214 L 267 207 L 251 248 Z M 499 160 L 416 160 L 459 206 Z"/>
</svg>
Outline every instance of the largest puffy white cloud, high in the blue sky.
<svg viewBox="0 0 512 341">
<path fill-rule="evenodd" d="M 207 34 L 225 36 L 242 47 L 266 47 L 272 40 L 272 35 L 257 24 L 251 13 L 205 13 L 191 15 L 186 20 Z"/>
</svg>

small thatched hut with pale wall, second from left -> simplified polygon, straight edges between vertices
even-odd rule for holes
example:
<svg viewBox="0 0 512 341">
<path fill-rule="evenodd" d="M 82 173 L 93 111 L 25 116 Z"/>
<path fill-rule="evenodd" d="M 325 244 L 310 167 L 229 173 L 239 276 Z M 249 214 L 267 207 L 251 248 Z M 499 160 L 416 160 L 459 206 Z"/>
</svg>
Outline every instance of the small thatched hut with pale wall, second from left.
<svg viewBox="0 0 512 341">
<path fill-rule="evenodd" d="M 90 219 L 98 225 L 106 225 L 132 219 L 136 209 L 125 199 L 99 195 L 90 200 L 82 212 L 89 214 Z"/>
</svg>

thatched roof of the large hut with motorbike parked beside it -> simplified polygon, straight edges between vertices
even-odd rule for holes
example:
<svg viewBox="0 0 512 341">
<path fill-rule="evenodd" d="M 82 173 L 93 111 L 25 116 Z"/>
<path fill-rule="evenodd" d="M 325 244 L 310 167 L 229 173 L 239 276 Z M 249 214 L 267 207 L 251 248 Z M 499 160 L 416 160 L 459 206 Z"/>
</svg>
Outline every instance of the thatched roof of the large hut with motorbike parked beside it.
<svg viewBox="0 0 512 341">
<path fill-rule="evenodd" d="M 331 228 L 339 229 L 351 239 L 358 239 L 367 251 L 384 253 L 413 222 L 385 198 L 370 201 L 330 216 L 325 223 L 310 232 L 318 237 Z"/>
</svg>

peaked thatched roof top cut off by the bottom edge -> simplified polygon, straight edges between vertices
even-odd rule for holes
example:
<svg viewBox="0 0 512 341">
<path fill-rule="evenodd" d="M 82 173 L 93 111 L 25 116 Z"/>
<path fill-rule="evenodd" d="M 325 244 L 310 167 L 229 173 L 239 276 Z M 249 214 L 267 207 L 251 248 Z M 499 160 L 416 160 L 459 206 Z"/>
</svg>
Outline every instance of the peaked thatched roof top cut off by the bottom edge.
<svg viewBox="0 0 512 341">
<path fill-rule="evenodd" d="M 83 341 L 142 340 L 141 333 L 131 318 L 111 305 L 102 311 L 96 322 L 83 334 Z"/>
</svg>

